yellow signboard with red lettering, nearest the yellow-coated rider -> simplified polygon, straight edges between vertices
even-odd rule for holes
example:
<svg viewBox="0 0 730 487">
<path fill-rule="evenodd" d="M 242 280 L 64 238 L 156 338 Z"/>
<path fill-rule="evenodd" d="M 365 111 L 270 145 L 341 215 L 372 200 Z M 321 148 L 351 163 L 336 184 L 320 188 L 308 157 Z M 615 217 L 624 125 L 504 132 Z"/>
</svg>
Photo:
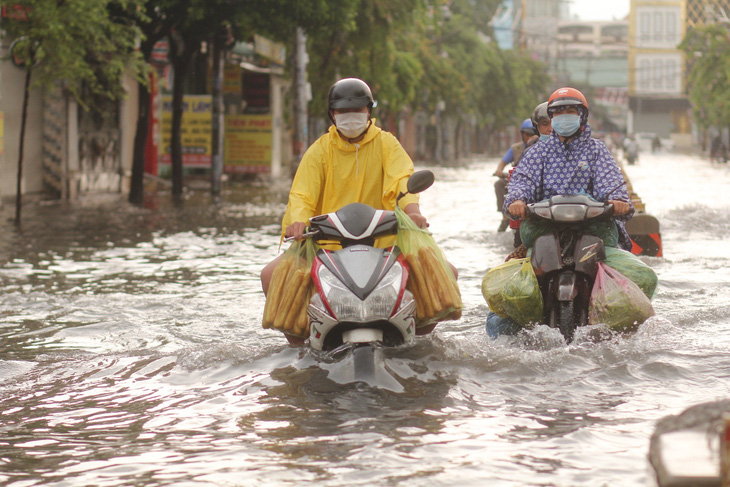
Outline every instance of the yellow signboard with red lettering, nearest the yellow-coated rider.
<svg viewBox="0 0 730 487">
<path fill-rule="evenodd" d="M 227 115 L 223 170 L 271 171 L 271 115 Z"/>
</svg>

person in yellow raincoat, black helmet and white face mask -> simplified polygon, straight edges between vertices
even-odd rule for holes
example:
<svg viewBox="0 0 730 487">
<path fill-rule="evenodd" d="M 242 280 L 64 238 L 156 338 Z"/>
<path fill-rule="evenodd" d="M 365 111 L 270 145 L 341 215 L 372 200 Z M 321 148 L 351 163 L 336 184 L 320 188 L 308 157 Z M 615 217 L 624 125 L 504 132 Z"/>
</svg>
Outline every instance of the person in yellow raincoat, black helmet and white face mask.
<svg viewBox="0 0 730 487">
<path fill-rule="evenodd" d="M 311 217 L 350 203 L 395 209 L 396 197 L 406 192 L 408 177 L 413 174 L 413 161 L 395 136 L 375 126 L 371 118 L 374 103 L 370 87 L 360 79 L 341 79 L 330 88 L 328 112 L 333 125 L 307 149 L 294 176 L 282 222 L 286 237 L 300 240 Z M 406 195 L 399 205 L 419 227 L 428 226 L 418 195 Z M 377 245 L 393 242 L 381 239 Z M 279 259 L 261 272 L 264 294 Z M 286 336 L 290 341 L 296 339 Z"/>
</svg>

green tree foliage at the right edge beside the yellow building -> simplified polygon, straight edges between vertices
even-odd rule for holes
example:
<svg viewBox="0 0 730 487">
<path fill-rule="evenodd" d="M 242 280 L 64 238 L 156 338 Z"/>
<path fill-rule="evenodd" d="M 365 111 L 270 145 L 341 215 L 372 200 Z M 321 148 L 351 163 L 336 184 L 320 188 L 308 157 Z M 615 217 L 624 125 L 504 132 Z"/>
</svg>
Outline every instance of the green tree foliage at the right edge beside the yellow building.
<svg viewBox="0 0 730 487">
<path fill-rule="evenodd" d="M 726 127 L 730 113 L 730 33 L 708 25 L 687 33 L 679 45 L 691 60 L 687 75 L 695 120 L 702 127 Z"/>
</svg>

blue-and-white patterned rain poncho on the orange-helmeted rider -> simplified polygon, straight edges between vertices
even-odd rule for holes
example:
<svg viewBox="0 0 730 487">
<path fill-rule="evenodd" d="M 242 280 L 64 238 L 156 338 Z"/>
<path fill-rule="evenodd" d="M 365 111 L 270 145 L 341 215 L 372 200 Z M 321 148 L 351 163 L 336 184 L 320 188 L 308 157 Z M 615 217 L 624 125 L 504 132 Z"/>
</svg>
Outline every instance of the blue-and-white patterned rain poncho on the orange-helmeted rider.
<svg viewBox="0 0 730 487">
<path fill-rule="evenodd" d="M 513 202 L 522 200 L 535 203 L 555 195 L 584 192 L 597 201 L 620 200 L 629 202 L 628 214 L 615 217 L 619 246 L 631 249 L 631 239 L 625 222 L 634 214 L 621 169 L 606 144 L 591 137 L 586 125 L 583 133 L 563 144 L 553 133 L 527 151 L 512 173 L 503 211 Z"/>
</svg>

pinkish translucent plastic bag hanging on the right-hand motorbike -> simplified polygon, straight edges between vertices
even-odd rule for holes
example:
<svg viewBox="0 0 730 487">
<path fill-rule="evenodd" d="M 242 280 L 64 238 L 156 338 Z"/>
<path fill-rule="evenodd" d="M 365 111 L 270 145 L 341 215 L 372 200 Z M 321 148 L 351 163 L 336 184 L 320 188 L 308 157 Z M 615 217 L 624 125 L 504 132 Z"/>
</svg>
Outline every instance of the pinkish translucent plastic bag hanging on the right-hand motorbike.
<svg viewBox="0 0 730 487">
<path fill-rule="evenodd" d="M 628 331 L 650 316 L 654 316 L 654 308 L 639 286 L 616 269 L 599 262 L 588 307 L 588 322 L 605 323 L 613 330 Z"/>
</svg>

